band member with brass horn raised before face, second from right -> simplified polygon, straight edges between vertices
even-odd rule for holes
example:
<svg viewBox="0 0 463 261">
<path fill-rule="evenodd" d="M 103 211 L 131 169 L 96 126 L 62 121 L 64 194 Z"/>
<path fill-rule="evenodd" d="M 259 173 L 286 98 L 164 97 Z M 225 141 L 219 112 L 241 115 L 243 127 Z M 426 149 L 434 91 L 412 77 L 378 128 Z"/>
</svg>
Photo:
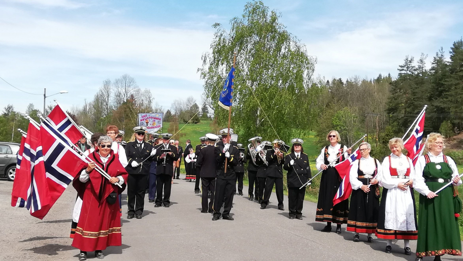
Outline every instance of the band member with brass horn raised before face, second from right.
<svg viewBox="0 0 463 261">
<path fill-rule="evenodd" d="M 273 184 L 275 184 L 276 198 L 278 199 L 278 209 L 285 210 L 283 205 L 283 163 L 284 154 L 280 151 L 280 146 L 285 146 L 284 141 L 275 139 L 273 141 L 273 148 L 267 150 L 265 155 L 268 163 L 267 167 L 267 178 L 265 181 L 265 194 L 264 199 L 261 203 L 261 209 L 265 209 L 268 205 L 268 200 L 272 194 Z M 289 149 L 289 147 L 288 147 Z M 286 149 L 288 151 L 288 149 Z"/>
</svg>

